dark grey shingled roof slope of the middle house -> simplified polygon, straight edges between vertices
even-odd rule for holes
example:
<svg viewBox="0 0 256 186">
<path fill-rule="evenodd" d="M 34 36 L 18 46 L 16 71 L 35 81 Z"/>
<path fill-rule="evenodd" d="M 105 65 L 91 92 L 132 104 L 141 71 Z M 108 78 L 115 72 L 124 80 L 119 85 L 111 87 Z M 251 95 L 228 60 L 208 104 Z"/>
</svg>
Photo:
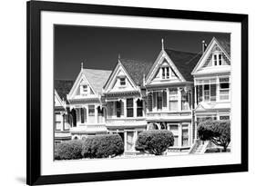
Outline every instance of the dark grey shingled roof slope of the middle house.
<svg viewBox="0 0 256 186">
<path fill-rule="evenodd" d="M 152 62 L 143 62 L 129 59 L 119 59 L 119 62 L 125 67 L 128 74 L 137 85 L 143 84 L 143 75 L 147 76 Z"/>
</svg>

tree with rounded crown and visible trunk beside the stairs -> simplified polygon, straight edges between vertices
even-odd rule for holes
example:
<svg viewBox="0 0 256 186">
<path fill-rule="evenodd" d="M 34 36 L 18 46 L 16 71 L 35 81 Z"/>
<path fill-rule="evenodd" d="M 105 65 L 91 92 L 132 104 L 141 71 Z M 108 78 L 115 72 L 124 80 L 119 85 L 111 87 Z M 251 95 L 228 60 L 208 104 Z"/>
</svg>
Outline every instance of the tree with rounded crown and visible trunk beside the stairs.
<svg viewBox="0 0 256 186">
<path fill-rule="evenodd" d="M 223 147 L 223 152 L 227 152 L 230 144 L 230 120 L 200 122 L 198 125 L 198 134 L 200 140 L 209 140 Z"/>
</svg>

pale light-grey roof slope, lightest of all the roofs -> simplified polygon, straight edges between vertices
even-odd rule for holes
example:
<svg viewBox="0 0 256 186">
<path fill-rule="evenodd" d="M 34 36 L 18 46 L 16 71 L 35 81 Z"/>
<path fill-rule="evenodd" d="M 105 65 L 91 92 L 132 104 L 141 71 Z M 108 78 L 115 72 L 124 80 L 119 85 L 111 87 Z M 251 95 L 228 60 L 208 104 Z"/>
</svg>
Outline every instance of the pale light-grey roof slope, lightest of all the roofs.
<svg viewBox="0 0 256 186">
<path fill-rule="evenodd" d="M 82 72 L 86 75 L 87 81 L 97 93 L 102 93 L 102 88 L 108 81 L 111 73 L 111 71 L 97 69 L 83 69 Z"/>
</svg>

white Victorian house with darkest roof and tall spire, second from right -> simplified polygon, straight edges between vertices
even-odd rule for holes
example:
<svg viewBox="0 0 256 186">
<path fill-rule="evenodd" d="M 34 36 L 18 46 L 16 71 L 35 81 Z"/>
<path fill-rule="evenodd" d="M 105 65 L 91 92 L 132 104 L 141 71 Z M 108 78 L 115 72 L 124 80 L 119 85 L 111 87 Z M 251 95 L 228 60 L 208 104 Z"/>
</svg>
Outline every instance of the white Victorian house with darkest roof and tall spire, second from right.
<svg viewBox="0 0 256 186">
<path fill-rule="evenodd" d="M 193 129 L 193 77 L 201 54 L 162 48 L 146 77 L 147 129 L 174 134 L 174 150 L 189 149 Z"/>
</svg>

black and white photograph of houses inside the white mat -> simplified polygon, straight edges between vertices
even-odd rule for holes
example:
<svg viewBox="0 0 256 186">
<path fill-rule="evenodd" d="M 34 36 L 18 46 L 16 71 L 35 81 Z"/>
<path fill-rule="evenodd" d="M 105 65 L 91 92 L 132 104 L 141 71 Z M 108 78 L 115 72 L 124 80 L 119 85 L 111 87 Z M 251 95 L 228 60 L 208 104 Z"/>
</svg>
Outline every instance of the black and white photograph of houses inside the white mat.
<svg viewBox="0 0 256 186">
<path fill-rule="evenodd" d="M 54 161 L 232 152 L 231 48 L 230 33 L 55 24 Z"/>
</svg>

